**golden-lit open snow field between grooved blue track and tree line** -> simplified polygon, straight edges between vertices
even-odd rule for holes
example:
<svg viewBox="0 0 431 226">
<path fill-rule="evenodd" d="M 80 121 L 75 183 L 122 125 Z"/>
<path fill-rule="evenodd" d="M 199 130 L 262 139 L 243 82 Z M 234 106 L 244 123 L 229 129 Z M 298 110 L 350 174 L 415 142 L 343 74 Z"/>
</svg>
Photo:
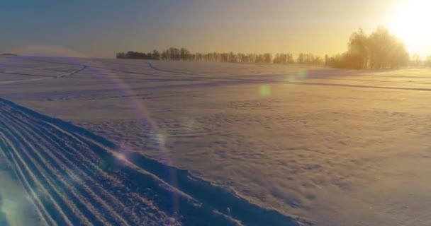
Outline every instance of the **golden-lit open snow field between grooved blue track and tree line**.
<svg viewBox="0 0 431 226">
<path fill-rule="evenodd" d="M 138 152 L 189 169 L 304 223 L 431 224 L 430 69 L 35 57 L 0 64 L 1 98 L 112 141 L 122 161 Z"/>
</svg>

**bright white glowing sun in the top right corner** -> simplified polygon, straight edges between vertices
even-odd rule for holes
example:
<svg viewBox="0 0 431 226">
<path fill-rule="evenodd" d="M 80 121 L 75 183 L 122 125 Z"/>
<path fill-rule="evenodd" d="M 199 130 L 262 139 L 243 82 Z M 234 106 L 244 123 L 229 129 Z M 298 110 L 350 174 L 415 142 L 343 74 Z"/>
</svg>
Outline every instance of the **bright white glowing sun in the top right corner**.
<svg viewBox="0 0 431 226">
<path fill-rule="evenodd" d="M 410 54 L 423 58 L 431 54 L 430 23 L 430 0 L 404 0 L 394 7 L 388 28 L 405 42 Z"/>
</svg>

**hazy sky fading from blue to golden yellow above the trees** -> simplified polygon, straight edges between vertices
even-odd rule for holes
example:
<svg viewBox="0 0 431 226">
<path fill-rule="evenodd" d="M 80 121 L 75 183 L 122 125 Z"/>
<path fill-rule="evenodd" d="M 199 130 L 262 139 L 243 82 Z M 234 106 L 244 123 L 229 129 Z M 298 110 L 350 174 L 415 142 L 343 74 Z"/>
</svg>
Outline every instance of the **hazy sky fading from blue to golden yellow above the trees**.
<svg viewBox="0 0 431 226">
<path fill-rule="evenodd" d="M 128 50 L 342 53 L 402 0 L 4 0 L 0 52 L 115 57 Z M 425 54 L 425 53 L 424 53 Z"/>
</svg>

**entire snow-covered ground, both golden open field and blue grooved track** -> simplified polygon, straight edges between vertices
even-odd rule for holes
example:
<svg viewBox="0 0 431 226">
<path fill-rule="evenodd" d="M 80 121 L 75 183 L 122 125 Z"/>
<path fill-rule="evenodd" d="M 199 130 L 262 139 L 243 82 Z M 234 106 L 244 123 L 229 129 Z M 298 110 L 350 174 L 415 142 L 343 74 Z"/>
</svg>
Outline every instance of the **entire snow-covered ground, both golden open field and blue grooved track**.
<svg viewBox="0 0 431 226">
<path fill-rule="evenodd" d="M 58 188 L 60 220 L 431 224 L 429 69 L 3 57 L 0 72 L 2 150 Z"/>
</svg>

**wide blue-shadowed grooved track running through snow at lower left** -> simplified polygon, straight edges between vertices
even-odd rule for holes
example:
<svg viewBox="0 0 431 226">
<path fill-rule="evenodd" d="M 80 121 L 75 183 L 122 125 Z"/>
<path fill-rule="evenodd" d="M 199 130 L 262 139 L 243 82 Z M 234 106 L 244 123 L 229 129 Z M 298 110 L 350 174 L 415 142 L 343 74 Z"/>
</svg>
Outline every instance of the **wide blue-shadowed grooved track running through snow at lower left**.
<svg viewBox="0 0 431 226">
<path fill-rule="evenodd" d="M 109 141 L 2 99 L 0 149 L 47 225 L 297 225 L 185 170 L 118 158 Z"/>
</svg>

